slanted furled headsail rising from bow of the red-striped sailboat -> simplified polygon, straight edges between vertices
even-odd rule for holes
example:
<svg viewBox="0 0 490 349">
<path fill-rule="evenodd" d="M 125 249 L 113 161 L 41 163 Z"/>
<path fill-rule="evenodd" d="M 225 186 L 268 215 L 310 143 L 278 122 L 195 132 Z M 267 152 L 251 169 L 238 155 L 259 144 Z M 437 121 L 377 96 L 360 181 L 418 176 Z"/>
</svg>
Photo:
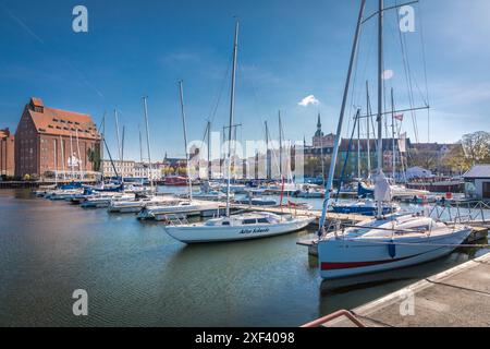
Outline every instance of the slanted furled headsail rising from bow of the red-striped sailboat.
<svg viewBox="0 0 490 349">
<path fill-rule="evenodd" d="M 330 196 L 333 191 L 333 176 L 335 174 L 335 163 L 336 163 L 336 158 L 339 155 L 339 145 L 340 145 L 341 136 L 342 136 L 342 125 L 343 125 L 343 121 L 344 121 L 345 107 L 347 105 L 348 87 L 351 86 L 352 71 L 353 71 L 354 61 L 355 61 L 355 58 L 357 55 L 357 47 L 358 47 L 358 43 L 359 43 L 359 35 L 360 35 L 360 29 L 362 29 L 362 25 L 363 25 L 363 16 L 364 16 L 365 7 L 366 7 L 366 0 L 360 0 L 359 16 L 357 17 L 356 33 L 355 33 L 354 43 L 352 46 L 351 60 L 348 63 L 348 71 L 347 71 L 347 79 L 345 80 L 344 95 L 342 98 L 342 107 L 341 107 L 341 111 L 340 111 L 339 124 L 336 128 L 335 144 L 333 146 L 332 159 L 330 163 L 329 178 L 328 178 L 327 188 L 326 188 L 326 198 L 323 201 L 323 208 L 322 208 L 321 217 L 320 217 L 320 227 L 318 230 L 318 234 L 320 237 L 323 233 L 324 221 L 327 219 L 327 209 L 329 207 Z"/>
</svg>

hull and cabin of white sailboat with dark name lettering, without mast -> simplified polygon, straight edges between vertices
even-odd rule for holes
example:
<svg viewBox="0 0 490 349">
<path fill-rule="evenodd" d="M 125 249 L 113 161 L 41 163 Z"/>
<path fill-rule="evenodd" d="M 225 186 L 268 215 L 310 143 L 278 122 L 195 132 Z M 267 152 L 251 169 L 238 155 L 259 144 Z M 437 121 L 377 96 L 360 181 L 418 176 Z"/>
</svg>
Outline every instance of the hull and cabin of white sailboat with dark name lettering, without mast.
<svg viewBox="0 0 490 349">
<path fill-rule="evenodd" d="M 284 234 L 304 229 L 315 218 L 271 213 L 248 213 L 209 219 L 198 224 L 172 224 L 164 229 L 184 243 L 241 241 Z"/>
</svg>

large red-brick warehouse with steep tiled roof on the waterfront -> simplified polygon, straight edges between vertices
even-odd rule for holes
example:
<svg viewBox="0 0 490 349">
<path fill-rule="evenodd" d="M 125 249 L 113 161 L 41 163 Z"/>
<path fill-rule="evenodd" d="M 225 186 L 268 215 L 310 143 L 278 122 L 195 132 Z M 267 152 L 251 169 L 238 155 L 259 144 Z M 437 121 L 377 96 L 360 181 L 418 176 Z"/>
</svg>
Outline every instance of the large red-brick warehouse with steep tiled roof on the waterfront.
<svg viewBox="0 0 490 349">
<path fill-rule="evenodd" d="M 19 177 L 83 178 L 99 171 L 100 134 L 91 117 L 30 98 L 15 133 Z"/>
</svg>

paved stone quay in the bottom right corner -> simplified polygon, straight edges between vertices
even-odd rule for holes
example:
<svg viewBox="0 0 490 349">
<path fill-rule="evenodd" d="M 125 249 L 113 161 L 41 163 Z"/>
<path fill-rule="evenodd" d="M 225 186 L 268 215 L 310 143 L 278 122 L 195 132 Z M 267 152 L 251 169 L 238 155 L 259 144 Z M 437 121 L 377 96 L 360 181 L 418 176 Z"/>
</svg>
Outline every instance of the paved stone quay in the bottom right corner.
<svg viewBox="0 0 490 349">
<path fill-rule="evenodd" d="M 488 327 L 490 253 L 305 327 Z"/>
</svg>

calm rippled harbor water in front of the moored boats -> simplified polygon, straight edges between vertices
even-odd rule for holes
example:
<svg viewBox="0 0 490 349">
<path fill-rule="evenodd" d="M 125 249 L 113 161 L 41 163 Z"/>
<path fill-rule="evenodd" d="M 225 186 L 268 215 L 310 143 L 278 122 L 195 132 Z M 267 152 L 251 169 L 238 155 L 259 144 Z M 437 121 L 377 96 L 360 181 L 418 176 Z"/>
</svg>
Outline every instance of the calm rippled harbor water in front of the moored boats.
<svg viewBox="0 0 490 349">
<path fill-rule="evenodd" d="M 26 190 L 0 191 L 0 326 L 298 326 L 490 252 L 460 249 L 332 289 L 317 258 L 296 244 L 311 230 L 185 245 L 161 222 Z M 88 293 L 87 316 L 72 312 L 77 289 Z"/>
</svg>

